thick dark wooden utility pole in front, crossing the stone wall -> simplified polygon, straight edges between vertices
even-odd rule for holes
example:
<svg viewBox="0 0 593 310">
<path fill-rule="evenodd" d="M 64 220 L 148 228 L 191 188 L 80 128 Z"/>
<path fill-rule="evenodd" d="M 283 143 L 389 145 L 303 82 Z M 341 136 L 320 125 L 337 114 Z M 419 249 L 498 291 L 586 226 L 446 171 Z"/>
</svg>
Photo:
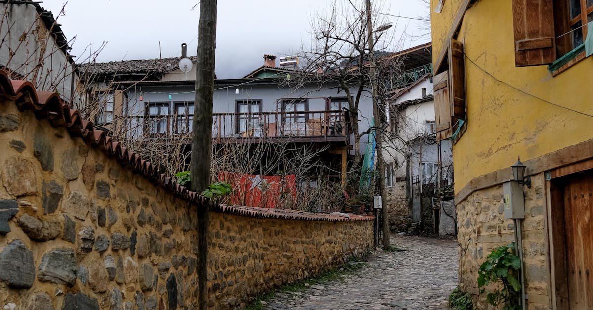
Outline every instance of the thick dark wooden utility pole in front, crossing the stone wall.
<svg viewBox="0 0 593 310">
<path fill-rule="evenodd" d="M 216 51 L 216 0 L 200 1 L 198 23 L 196 97 L 192 129 L 192 191 L 202 192 L 210 183 L 212 152 L 212 109 Z M 197 206 L 198 309 L 208 308 L 208 205 Z"/>
</svg>

